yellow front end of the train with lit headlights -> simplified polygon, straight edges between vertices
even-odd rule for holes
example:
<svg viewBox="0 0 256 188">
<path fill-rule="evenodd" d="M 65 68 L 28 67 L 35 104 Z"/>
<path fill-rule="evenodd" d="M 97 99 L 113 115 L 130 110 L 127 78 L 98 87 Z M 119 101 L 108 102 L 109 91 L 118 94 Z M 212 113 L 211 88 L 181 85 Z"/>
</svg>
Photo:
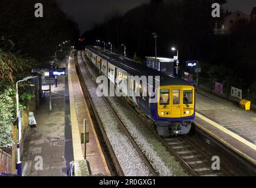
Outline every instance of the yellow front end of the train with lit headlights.
<svg viewBox="0 0 256 188">
<path fill-rule="evenodd" d="M 186 135 L 195 120 L 195 87 L 178 78 L 173 78 L 170 82 L 171 85 L 162 83 L 157 89 L 159 99 L 157 108 L 152 106 L 152 117 L 159 135 Z M 154 113 L 153 109 L 157 109 L 157 112 Z"/>
</svg>

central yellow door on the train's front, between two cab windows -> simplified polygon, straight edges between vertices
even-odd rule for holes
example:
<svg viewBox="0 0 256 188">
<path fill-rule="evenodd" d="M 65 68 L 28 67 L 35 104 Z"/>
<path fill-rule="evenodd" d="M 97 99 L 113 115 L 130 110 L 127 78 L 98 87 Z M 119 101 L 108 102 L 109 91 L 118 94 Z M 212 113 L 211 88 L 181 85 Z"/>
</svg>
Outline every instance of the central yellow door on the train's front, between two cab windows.
<svg viewBox="0 0 256 188">
<path fill-rule="evenodd" d="M 171 108 L 171 113 L 172 117 L 180 117 L 181 116 L 181 111 L 182 111 L 182 106 L 181 106 L 181 101 L 180 101 L 180 95 L 181 95 L 181 88 L 180 87 L 172 87 L 172 92 L 171 92 L 171 100 L 172 100 L 172 108 Z"/>
</svg>

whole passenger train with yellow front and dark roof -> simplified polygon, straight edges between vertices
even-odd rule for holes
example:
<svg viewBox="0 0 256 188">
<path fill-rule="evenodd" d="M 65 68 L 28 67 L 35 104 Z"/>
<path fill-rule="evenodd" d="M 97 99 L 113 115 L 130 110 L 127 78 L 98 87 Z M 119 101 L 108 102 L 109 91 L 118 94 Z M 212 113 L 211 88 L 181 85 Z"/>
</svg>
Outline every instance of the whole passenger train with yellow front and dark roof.
<svg viewBox="0 0 256 188">
<path fill-rule="evenodd" d="M 189 134 L 195 120 L 195 86 L 192 83 L 96 46 L 86 46 L 85 55 L 109 83 L 115 87 L 120 87 L 117 82 L 125 83 L 126 87 L 120 87 L 126 94 L 124 98 L 140 115 L 153 122 L 158 135 Z M 136 76 L 147 79 L 151 76 L 153 82 L 138 81 Z M 152 102 L 153 99 L 156 100 Z"/>
</svg>

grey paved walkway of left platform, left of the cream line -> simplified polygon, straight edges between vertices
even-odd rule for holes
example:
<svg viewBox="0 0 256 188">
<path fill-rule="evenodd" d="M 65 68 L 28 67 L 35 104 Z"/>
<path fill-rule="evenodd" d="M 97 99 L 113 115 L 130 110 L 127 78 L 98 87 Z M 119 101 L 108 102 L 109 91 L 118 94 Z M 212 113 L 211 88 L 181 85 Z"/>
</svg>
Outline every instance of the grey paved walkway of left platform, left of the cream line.
<svg viewBox="0 0 256 188">
<path fill-rule="evenodd" d="M 65 67 L 67 58 L 59 65 Z M 70 123 L 66 118 L 70 111 L 65 100 L 68 97 L 66 89 L 66 76 L 59 76 L 58 86 L 51 86 L 51 112 L 49 94 L 38 107 L 35 113 L 37 127 L 31 127 L 24 140 L 22 176 L 67 176 L 67 166 L 74 158 Z"/>
</svg>

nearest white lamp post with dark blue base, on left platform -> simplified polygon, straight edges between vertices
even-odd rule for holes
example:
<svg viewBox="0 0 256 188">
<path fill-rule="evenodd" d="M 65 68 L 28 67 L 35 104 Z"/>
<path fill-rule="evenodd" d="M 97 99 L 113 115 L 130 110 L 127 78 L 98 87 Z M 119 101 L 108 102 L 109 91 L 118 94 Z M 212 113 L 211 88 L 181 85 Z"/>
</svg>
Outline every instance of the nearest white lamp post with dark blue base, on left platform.
<svg viewBox="0 0 256 188">
<path fill-rule="evenodd" d="M 18 172 L 18 176 L 22 176 L 22 167 L 21 167 L 21 153 L 19 151 L 19 141 L 21 140 L 21 123 L 19 116 L 21 116 L 21 114 L 19 113 L 19 92 L 18 92 L 18 83 L 20 82 L 25 82 L 29 79 L 32 78 L 36 78 L 37 76 L 28 76 L 22 80 L 19 80 L 16 83 L 16 116 L 17 116 L 17 126 L 18 126 L 18 131 L 17 131 L 17 163 L 16 163 L 16 169 Z"/>
</svg>

